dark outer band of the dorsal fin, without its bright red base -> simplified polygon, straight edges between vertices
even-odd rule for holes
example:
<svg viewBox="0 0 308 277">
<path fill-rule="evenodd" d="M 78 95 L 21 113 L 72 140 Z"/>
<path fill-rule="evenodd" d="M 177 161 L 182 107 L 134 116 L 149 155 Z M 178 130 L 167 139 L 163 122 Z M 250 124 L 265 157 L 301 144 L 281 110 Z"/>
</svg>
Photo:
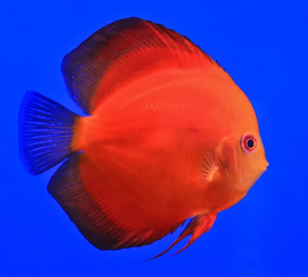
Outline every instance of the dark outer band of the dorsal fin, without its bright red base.
<svg viewBox="0 0 308 277">
<path fill-rule="evenodd" d="M 147 46 L 203 54 L 221 67 L 186 36 L 138 17 L 124 18 L 93 33 L 63 58 L 61 70 L 70 97 L 85 113 L 91 114 L 95 97 L 102 97 L 96 95 L 97 89 L 110 65 L 122 55 Z M 109 89 L 101 89 L 100 94 L 108 94 Z"/>
</svg>

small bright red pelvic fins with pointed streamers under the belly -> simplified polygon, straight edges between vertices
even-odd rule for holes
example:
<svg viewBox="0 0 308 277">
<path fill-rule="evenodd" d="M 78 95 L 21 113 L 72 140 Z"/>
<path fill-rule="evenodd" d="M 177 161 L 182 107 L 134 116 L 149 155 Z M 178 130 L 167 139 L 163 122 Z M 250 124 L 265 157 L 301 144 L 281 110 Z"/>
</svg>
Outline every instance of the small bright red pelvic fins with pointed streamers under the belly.
<svg viewBox="0 0 308 277">
<path fill-rule="evenodd" d="M 160 257 L 163 254 L 166 254 L 172 247 L 174 247 L 176 244 L 178 244 L 180 241 L 186 238 L 186 236 L 191 235 L 188 243 L 178 252 L 173 254 L 172 256 L 179 254 L 180 252 L 185 250 L 188 246 L 190 246 L 192 243 L 194 243 L 197 239 L 199 239 L 202 234 L 204 234 L 205 232 L 208 232 L 210 228 L 213 226 L 216 220 L 216 217 L 217 217 L 217 213 L 206 213 L 206 214 L 197 215 L 196 217 L 194 217 L 188 222 L 186 228 L 180 234 L 179 238 L 174 243 L 172 243 L 165 251 L 145 261 L 153 260 L 153 259 Z"/>
</svg>

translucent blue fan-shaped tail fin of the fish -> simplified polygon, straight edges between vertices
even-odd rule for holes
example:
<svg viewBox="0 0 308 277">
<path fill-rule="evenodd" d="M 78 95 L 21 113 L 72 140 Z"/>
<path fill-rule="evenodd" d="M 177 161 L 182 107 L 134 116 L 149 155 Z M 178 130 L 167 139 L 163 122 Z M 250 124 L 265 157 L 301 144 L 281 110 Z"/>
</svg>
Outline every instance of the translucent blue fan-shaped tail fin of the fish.
<svg viewBox="0 0 308 277">
<path fill-rule="evenodd" d="M 18 115 L 20 157 L 38 175 L 65 160 L 79 115 L 41 95 L 27 91 Z"/>
</svg>

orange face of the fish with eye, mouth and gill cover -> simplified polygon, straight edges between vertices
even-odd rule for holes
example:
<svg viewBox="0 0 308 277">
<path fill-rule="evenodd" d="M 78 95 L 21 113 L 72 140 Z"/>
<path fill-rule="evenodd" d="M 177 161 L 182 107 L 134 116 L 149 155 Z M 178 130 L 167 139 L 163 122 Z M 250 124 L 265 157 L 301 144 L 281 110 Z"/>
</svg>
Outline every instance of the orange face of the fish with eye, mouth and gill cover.
<svg viewBox="0 0 308 277">
<path fill-rule="evenodd" d="M 251 189 L 268 166 L 260 134 L 253 132 L 224 137 L 216 152 L 226 182 L 239 192 Z"/>
</svg>

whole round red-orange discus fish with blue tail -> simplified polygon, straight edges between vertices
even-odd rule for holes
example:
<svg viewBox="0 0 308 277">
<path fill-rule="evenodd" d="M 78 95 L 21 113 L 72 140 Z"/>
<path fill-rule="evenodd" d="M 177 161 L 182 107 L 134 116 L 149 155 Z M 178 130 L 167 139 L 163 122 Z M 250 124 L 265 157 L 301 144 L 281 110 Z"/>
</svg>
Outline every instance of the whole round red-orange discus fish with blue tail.
<svg viewBox="0 0 308 277">
<path fill-rule="evenodd" d="M 176 31 L 121 19 L 67 54 L 62 73 L 88 116 L 28 91 L 20 156 L 35 175 L 66 160 L 48 191 L 99 249 L 149 245 L 192 218 L 167 250 L 191 235 L 185 249 L 267 168 L 252 104 Z"/>
</svg>

